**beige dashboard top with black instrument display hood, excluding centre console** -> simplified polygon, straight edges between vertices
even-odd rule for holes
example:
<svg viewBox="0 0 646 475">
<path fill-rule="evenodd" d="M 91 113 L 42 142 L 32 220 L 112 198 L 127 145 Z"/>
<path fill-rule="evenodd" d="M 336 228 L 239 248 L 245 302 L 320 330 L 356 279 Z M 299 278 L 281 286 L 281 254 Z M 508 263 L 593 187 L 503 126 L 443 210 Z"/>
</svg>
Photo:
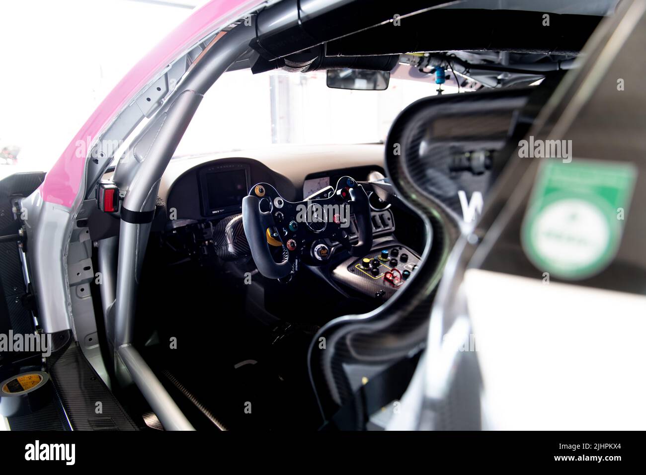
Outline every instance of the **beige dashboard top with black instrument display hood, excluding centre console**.
<svg viewBox="0 0 646 475">
<path fill-rule="evenodd" d="M 290 201 L 318 193 L 340 176 L 367 180 L 383 173 L 383 145 L 272 146 L 174 158 L 161 179 L 160 198 L 177 219 L 204 220 L 240 213 L 251 186 L 266 182 Z"/>
</svg>

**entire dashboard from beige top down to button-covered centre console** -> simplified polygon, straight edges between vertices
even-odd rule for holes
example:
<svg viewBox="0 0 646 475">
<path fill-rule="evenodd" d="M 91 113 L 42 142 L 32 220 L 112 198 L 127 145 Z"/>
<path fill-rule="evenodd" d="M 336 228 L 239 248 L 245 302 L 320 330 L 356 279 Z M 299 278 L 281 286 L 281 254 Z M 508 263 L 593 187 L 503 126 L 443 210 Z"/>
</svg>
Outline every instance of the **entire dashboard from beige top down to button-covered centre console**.
<svg viewBox="0 0 646 475">
<path fill-rule="evenodd" d="M 172 231 L 165 236 L 172 240 L 172 249 L 185 249 L 185 255 L 202 263 L 235 261 L 249 255 L 246 240 L 240 244 L 236 239 L 244 235 L 242 198 L 255 184 L 270 184 L 291 202 L 327 198 L 342 176 L 359 182 L 383 178 L 383 160 L 380 144 L 274 146 L 174 158 L 159 191 L 169 216 L 165 229 Z M 299 249 L 299 260 L 333 286 L 388 299 L 408 280 L 420 255 L 415 250 L 418 246 L 411 248 L 395 238 L 395 213 L 390 204 L 370 191 L 368 198 L 374 243 L 368 254 L 349 257 L 334 238 L 319 238 Z M 397 212 L 402 233 L 413 239 L 421 235 L 406 221 L 405 213 Z M 354 215 L 348 235 L 352 243 L 359 240 Z"/>
</svg>

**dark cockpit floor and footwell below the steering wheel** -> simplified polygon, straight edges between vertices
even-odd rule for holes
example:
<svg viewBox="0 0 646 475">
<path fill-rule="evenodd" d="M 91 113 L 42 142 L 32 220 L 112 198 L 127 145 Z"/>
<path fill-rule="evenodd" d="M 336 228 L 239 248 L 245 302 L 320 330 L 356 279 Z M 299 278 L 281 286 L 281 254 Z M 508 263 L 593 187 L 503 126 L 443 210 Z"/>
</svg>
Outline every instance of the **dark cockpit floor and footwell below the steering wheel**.
<svg viewBox="0 0 646 475">
<path fill-rule="evenodd" d="M 379 302 L 340 298 L 307 269 L 287 284 L 258 273 L 245 284 L 222 266 L 168 262 L 165 249 L 149 246 L 138 299 L 138 348 L 191 423 L 217 428 L 197 402 L 227 429 L 319 428 L 307 372 L 309 344 L 322 324 Z M 254 285 L 264 290 L 271 316 L 251 305 Z"/>
</svg>

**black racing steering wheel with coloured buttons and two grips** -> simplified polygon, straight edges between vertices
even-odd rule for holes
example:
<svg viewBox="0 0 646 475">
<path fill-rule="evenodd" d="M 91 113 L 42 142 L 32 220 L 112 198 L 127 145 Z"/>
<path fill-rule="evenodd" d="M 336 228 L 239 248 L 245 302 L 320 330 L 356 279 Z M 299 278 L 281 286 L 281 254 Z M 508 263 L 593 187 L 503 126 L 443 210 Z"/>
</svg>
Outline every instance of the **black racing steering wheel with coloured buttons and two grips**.
<svg viewBox="0 0 646 475">
<path fill-rule="evenodd" d="M 350 243 L 350 216 L 357 223 L 359 241 Z M 242 198 L 242 224 L 258 271 L 270 279 L 293 273 L 293 264 L 314 240 L 330 238 L 353 256 L 370 252 L 372 226 L 368 195 L 349 176 L 342 176 L 328 198 L 289 202 L 276 189 L 259 183 Z M 270 244 L 282 246 L 282 262 L 274 259 Z"/>
</svg>

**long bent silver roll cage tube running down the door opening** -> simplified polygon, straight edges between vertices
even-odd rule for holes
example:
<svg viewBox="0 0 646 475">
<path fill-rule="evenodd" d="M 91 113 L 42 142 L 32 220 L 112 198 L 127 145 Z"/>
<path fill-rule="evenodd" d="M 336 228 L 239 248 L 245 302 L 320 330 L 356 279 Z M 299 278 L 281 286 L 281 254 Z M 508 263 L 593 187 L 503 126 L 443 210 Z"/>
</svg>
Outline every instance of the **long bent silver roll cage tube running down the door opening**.
<svg viewBox="0 0 646 475">
<path fill-rule="evenodd" d="M 255 38 L 255 16 L 218 37 L 191 65 L 165 104 L 142 131 L 116 165 L 114 182 L 125 198 L 121 206 L 116 301 L 111 313 L 113 334 L 108 334 L 115 349 L 116 372 L 132 381 L 151 405 L 166 430 L 194 430 L 172 397 L 163 388 L 132 346 L 137 287 L 151 222 L 138 223 L 126 216 L 154 213 L 161 175 L 193 118 L 203 94 L 236 59 L 247 53 Z M 124 211 L 125 209 L 125 211 Z M 134 221 L 134 222 L 130 222 Z M 124 368 L 127 373 L 124 372 Z"/>
</svg>

